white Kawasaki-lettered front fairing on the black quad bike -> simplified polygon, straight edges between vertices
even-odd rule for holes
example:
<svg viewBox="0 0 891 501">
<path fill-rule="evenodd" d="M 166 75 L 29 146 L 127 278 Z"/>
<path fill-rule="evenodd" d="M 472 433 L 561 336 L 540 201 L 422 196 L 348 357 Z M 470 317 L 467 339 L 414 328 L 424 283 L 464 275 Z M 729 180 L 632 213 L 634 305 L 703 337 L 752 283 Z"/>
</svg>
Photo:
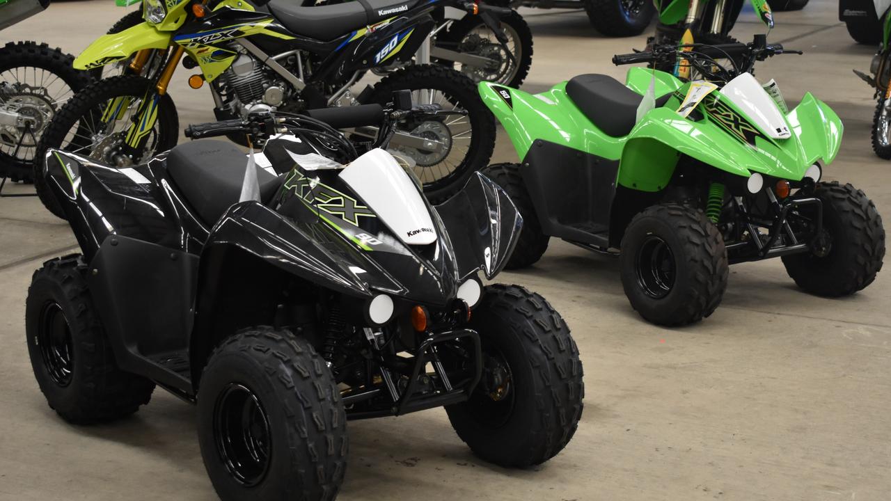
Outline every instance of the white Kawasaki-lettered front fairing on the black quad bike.
<svg viewBox="0 0 891 501">
<path fill-rule="evenodd" d="M 421 193 L 388 152 L 375 148 L 340 172 L 350 188 L 407 245 L 436 242 L 437 232 Z"/>
</svg>

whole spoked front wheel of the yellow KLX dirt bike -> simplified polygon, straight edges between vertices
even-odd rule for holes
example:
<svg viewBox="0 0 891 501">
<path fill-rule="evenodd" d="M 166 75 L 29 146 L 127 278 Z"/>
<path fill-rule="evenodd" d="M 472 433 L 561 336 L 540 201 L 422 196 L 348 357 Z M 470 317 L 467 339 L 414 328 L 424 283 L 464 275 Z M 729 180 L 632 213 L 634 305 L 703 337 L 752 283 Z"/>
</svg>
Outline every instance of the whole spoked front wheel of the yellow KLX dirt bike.
<svg viewBox="0 0 891 501">
<path fill-rule="evenodd" d="M 143 132 L 140 147 L 132 148 L 127 145 L 127 134 L 146 99 L 156 114 L 155 123 Z M 148 79 L 134 75 L 108 78 L 86 87 L 61 108 L 46 127 L 37 155 L 42 157 L 48 148 L 57 148 L 124 168 L 174 147 L 178 129 L 173 100 L 168 94 L 155 94 Z M 43 179 L 37 177 L 35 185 L 45 207 L 64 218 Z"/>
</svg>

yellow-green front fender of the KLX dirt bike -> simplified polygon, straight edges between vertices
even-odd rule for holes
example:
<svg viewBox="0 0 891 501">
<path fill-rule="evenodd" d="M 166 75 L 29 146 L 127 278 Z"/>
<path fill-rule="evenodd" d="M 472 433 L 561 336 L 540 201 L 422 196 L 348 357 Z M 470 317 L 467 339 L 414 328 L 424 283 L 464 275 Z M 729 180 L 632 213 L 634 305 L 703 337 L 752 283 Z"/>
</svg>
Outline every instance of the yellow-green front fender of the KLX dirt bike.
<svg viewBox="0 0 891 501">
<path fill-rule="evenodd" d="M 120 33 L 97 38 L 74 60 L 77 70 L 92 70 L 110 62 L 127 59 L 143 49 L 166 49 L 173 32 L 162 32 L 143 22 Z"/>
</svg>

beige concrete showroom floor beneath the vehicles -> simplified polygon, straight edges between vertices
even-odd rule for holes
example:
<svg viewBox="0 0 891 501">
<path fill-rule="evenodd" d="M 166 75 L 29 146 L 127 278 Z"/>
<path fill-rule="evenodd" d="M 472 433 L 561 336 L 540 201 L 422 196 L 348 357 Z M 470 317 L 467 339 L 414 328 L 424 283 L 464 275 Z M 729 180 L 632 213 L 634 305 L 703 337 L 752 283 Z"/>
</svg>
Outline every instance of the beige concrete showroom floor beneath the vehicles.
<svg viewBox="0 0 891 501">
<path fill-rule="evenodd" d="M 3 37 L 78 53 L 123 14 L 110 5 L 56 3 Z M 806 54 L 764 62 L 758 75 L 776 78 L 792 103 L 805 90 L 830 103 L 846 134 L 828 176 L 864 188 L 889 221 L 891 164 L 871 152 L 871 90 L 851 73 L 869 67 L 873 49 L 854 45 L 837 5 L 811 0 L 803 12 L 778 12 L 772 42 Z M 583 72 L 620 77 L 609 57 L 644 45 L 644 37 L 593 34 L 584 13 L 522 13 L 535 34 L 527 89 Z M 750 11 L 738 26 L 744 40 L 760 29 Z M 185 75 L 172 91 L 181 123 L 212 119 L 209 94 L 190 91 Z M 500 141 L 494 160 L 514 158 Z M 31 272 L 74 242 L 37 200 L 0 200 L 0 499 L 216 499 L 193 407 L 164 391 L 135 417 L 105 426 L 69 426 L 45 405 L 24 344 L 23 301 Z M 568 448 L 511 471 L 471 456 L 441 410 L 350 423 L 339 498 L 887 499 L 889 272 L 842 300 L 797 291 L 779 260 L 731 273 L 713 316 L 662 329 L 628 306 L 614 259 L 552 242 L 536 267 L 499 280 L 544 294 L 578 342 L 587 391 Z"/>
</svg>

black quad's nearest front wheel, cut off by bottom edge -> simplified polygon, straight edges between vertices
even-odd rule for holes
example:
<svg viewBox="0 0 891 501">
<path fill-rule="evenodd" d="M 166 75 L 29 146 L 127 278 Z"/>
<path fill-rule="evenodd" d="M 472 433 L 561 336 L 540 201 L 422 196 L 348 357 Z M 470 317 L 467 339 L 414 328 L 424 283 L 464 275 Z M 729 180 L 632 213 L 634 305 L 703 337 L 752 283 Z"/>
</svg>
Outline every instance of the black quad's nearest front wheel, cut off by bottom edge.
<svg viewBox="0 0 891 501">
<path fill-rule="evenodd" d="M 337 497 L 347 415 L 331 369 L 306 340 L 255 327 L 224 341 L 198 391 L 201 457 L 224 501 Z"/>
</svg>

